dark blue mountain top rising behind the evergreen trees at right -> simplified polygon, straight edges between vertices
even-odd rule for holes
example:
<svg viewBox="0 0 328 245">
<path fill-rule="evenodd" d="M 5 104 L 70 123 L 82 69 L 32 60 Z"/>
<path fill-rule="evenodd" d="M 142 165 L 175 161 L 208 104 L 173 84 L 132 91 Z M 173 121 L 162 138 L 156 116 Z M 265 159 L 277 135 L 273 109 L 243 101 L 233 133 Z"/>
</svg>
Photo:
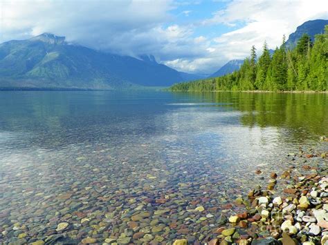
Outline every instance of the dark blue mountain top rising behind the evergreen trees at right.
<svg viewBox="0 0 328 245">
<path fill-rule="evenodd" d="M 295 32 L 289 35 L 286 46 L 289 48 L 295 47 L 298 43 L 298 39 L 300 39 L 304 33 L 307 33 L 311 37 L 311 40 L 314 41 L 315 35 L 325 32 L 325 25 L 328 25 L 328 20 L 325 19 L 316 19 L 302 23 L 302 25 L 296 28 Z"/>
</svg>

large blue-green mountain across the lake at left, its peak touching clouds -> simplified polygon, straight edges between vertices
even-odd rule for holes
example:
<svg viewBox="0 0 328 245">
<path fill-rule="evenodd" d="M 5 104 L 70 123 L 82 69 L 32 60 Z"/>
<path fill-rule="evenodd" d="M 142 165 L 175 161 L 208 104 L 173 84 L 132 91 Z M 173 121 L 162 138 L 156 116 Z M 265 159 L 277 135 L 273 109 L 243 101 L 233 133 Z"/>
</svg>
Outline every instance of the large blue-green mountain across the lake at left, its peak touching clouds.
<svg viewBox="0 0 328 245">
<path fill-rule="evenodd" d="M 153 56 L 113 55 L 44 33 L 0 44 L 0 88 L 117 89 L 170 86 L 185 75 Z"/>
</svg>

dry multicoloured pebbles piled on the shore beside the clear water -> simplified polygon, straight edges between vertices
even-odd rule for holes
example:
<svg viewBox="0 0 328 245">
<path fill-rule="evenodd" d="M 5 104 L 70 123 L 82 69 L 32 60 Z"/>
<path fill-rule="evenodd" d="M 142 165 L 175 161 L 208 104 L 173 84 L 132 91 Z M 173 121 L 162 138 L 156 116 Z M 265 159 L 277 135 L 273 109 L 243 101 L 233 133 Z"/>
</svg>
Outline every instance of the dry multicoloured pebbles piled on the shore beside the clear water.
<svg viewBox="0 0 328 245">
<path fill-rule="evenodd" d="M 247 197 L 237 198 L 235 206 L 241 212 L 228 217 L 222 215 L 221 224 L 213 231 L 216 237 L 208 245 L 328 244 L 328 152 L 300 150 L 298 155 L 291 155 L 304 158 L 300 169 L 291 165 L 280 176 L 269 173 L 266 188 L 257 186 Z M 313 159 L 310 164 L 309 159 Z M 318 164 L 316 159 L 323 163 Z M 261 174 L 264 174 L 261 170 L 255 172 Z M 188 239 L 174 242 L 174 245 L 185 244 L 190 244 Z"/>
</svg>

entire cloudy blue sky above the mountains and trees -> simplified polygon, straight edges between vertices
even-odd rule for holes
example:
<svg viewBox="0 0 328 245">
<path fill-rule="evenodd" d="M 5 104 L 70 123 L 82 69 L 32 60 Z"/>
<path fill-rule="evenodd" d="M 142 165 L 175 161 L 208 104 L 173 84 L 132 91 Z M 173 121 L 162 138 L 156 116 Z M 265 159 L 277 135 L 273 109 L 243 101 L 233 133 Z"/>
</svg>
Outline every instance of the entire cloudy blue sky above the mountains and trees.
<svg viewBox="0 0 328 245">
<path fill-rule="evenodd" d="M 0 43 L 43 32 L 176 70 L 210 74 L 231 59 L 275 48 L 311 19 L 328 19 L 327 0 L 0 0 Z"/>
</svg>

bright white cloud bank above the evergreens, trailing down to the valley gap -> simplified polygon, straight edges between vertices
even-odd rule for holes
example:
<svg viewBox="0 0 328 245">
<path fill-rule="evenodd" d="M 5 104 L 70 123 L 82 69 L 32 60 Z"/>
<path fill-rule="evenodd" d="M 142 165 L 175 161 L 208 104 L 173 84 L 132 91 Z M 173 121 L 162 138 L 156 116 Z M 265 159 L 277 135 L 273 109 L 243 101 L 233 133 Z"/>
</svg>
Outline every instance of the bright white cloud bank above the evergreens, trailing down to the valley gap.
<svg viewBox="0 0 328 245">
<path fill-rule="evenodd" d="M 253 45 L 260 53 L 264 40 L 269 48 L 280 46 L 283 35 L 288 38 L 297 26 L 311 19 L 328 19 L 327 0 L 232 1 L 212 18 L 201 21 L 201 25 L 233 27 L 243 23 L 242 28 L 207 39 L 207 52 L 201 57 L 176 59 L 167 65 L 191 72 L 213 72 L 231 59 L 248 57 Z"/>
</svg>

